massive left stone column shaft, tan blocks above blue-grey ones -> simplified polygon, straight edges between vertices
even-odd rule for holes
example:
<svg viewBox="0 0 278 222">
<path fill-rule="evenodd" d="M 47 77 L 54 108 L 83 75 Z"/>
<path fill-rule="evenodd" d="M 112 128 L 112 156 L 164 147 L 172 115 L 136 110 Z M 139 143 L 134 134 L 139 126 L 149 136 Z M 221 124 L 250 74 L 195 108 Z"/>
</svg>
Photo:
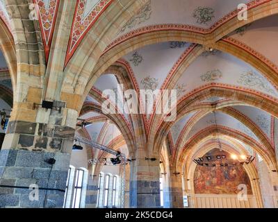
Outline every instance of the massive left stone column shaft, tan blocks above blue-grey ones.
<svg viewBox="0 0 278 222">
<path fill-rule="evenodd" d="M 0 151 L 0 207 L 63 207 L 77 112 L 14 106 Z"/>
</svg>

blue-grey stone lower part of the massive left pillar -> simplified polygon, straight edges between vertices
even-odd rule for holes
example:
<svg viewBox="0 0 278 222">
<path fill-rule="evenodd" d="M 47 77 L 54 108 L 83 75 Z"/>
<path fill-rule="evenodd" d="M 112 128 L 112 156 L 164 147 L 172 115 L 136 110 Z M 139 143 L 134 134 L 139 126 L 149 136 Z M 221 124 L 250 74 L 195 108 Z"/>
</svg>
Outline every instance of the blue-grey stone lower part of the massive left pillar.
<svg viewBox="0 0 278 222">
<path fill-rule="evenodd" d="M 63 207 L 69 166 L 68 153 L 0 151 L 0 207 Z M 30 185 L 38 185 L 38 200 L 29 197 Z"/>
</svg>

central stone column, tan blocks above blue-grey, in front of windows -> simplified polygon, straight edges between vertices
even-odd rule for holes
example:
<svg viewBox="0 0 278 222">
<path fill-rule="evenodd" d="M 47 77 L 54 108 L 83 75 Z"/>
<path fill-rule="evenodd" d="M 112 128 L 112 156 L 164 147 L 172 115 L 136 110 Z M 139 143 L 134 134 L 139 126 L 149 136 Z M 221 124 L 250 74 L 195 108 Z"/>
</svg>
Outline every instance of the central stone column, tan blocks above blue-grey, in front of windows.
<svg viewBox="0 0 278 222">
<path fill-rule="evenodd" d="M 159 187 L 159 157 L 145 160 L 144 151 L 138 150 L 136 161 L 131 162 L 129 197 L 131 208 L 161 207 Z M 152 156 L 153 157 L 153 156 Z"/>
</svg>

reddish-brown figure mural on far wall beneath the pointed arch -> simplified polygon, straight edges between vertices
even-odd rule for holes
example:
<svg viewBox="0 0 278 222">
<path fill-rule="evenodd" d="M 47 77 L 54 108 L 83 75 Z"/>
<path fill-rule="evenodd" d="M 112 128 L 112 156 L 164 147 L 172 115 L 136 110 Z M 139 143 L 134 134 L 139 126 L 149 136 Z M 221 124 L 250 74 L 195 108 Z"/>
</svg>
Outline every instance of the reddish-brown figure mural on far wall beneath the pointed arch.
<svg viewBox="0 0 278 222">
<path fill-rule="evenodd" d="M 218 148 L 209 151 L 204 155 L 216 156 L 219 154 L 226 155 L 230 159 L 227 152 L 220 152 Z M 228 167 L 201 167 L 197 166 L 194 176 L 195 194 L 238 194 L 238 185 L 247 185 L 247 194 L 252 194 L 250 179 L 247 176 L 243 166 Z"/>
</svg>

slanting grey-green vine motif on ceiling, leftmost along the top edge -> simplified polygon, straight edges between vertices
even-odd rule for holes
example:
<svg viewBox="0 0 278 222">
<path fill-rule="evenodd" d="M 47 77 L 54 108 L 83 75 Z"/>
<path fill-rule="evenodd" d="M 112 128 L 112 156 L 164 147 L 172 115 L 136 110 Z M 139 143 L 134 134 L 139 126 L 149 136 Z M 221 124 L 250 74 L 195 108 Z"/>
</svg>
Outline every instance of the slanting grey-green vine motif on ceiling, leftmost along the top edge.
<svg viewBox="0 0 278 222">
<path fill-rule="evenodd" d="M 126 31 L 126 29 L 131 29 L 143 22 L 146 22 L 151 18 L 152 15 L 152 1 L 148 1 L 145 6 L 143 6 L 137 15 L 134 15 L 131 19 L 129 19 L 129 22 L 126 22 L 124 27 L 119 31 L 118 34 L 123 33 Z"/>
</svg>

